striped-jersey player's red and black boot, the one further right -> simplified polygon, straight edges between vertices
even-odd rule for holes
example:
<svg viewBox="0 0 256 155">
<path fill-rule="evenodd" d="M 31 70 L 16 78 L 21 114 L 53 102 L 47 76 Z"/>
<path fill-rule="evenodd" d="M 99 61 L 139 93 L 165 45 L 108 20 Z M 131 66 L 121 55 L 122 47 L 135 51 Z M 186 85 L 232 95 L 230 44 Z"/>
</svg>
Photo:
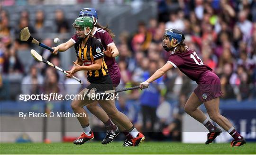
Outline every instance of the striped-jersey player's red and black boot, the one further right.
<svg viewBox="0 0 256 155">
<path fill-rule="evenodd" d="M 123 146 L 139 146 L 141 142 L 145 140 L 142 133 L 138 133 L 136 138 L 133 138 L 130 134 L 126 137 Z"/>
</svg>

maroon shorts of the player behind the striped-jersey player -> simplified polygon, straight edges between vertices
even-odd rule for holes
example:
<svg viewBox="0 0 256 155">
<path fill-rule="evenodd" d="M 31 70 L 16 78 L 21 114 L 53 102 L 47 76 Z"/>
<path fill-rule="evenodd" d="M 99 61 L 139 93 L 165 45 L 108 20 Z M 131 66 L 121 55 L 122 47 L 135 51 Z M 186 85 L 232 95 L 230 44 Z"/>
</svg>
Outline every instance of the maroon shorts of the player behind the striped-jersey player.
<svg viewBox="0 0 256 155">
<path fill-rule="evenodd" d="M 120 74 L 120 69 L 118 64 L 114 63 L 111 65 L 110 68 L 108 66 L 108 70 L 109 70 L 109 75 L 112 80 L 113 86 L 117 87 L 120 84 L 120 80 L 121 80 L 121 74 Z"/>
</svg>

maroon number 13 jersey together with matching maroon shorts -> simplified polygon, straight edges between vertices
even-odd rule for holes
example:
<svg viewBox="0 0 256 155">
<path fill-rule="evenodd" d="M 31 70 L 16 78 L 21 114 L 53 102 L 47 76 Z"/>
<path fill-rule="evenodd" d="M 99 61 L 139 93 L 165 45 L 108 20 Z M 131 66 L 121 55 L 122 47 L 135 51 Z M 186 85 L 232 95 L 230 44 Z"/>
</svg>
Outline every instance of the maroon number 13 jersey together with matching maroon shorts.
<svg viewBox="0 0 256 155">
<path fill-rule="evenodd" d="M 210 101 L 222 95 L 219 77 L 212 69 L 204 65 L 196 52 L 187 47 L 187 52 L 176 51 L 176 48 L 167 61 L 175 68 L 179 68 L 186 76 L 196 81 L 198 86 L 194 93 L 201 102 Z"/>
</svg>

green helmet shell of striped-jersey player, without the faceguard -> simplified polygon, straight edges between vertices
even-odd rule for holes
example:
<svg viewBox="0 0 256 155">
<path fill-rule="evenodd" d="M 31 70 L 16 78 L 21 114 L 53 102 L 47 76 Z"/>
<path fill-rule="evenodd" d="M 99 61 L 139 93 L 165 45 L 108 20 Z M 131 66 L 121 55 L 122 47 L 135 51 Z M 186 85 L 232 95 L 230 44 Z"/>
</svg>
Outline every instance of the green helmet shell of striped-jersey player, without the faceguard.
<svg viewBox="0 0 256 155">
<path fill-rule="evenodd" d="M 90 31 L 88 34 L 91 33 L 91 30 L 93 29 L 93 19 L 91 17 L 78 17 L 75 19 L 73 23 L 74 27 L 82 27 L 84 29 L 84 34 L 86 33 L 86 28 L 89 27 Z M 88 35 L 85 34 L 85 35 Z"/>
</svg>

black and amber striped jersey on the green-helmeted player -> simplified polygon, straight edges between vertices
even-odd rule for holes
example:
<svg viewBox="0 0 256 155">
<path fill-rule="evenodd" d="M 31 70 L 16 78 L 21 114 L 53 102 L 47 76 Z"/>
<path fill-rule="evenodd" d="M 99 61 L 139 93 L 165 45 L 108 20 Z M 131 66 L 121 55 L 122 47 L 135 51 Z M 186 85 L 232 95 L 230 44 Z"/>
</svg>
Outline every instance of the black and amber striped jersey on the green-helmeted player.
<svg viewBox="0 0 256 155">
<path fill-rule="evenodd" d="M 82 41 L 75 43 L 74 45 L 76 56 L 82 60 L 84 66 L 89 66 L 94 63 L 95 60 L 101 59 L 105 56 L 103 47 L 100 41 L 90 36 L 87 43 L 82 47 Z M 88 70 L 88 80 L 94 81 L 95 78 L 101 78 L 108 75 L 108 67 L 102 59 L 101 69 Z"/>
</svg>

